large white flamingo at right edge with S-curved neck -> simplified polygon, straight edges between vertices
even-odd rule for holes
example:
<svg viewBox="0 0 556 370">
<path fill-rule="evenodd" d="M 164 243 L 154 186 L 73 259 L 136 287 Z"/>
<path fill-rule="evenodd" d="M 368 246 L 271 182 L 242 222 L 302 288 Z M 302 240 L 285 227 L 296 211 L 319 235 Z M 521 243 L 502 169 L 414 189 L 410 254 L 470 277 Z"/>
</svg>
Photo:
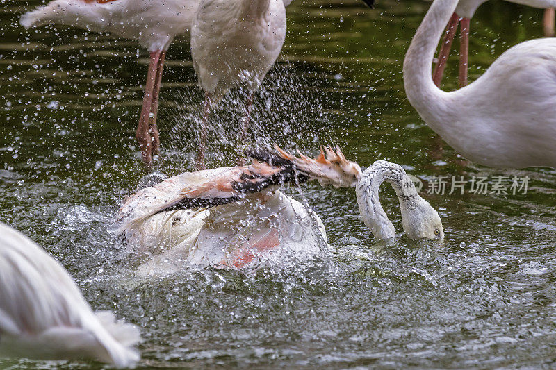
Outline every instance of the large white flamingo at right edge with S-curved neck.
<svg viewBox="0 0 556 370">
<path fill-rule="evenodd" d="M 522 42 L 477 81 L 443 92 L 431 77 L 434 49 L 457 0 L 435 0 L 404 60 L 407 99 L 464 157 L 498 168 L 556 167 L 556 39 Z"/>
</svg>

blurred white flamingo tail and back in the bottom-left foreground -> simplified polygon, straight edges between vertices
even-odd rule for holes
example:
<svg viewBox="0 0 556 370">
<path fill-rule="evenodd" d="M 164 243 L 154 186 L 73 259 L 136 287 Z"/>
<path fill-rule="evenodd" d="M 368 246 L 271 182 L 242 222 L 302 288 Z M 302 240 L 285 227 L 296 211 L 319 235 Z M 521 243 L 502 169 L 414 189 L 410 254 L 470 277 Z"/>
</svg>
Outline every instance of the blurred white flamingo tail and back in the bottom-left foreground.
<svg viewBox="0 0 556 370">
<path fill-rule="evenodd" d="M 0 356 L 93 358 L 133 367 L 138 328 L 92 312 L 74 280 L 19 231 L 0 224 Z"/>
</svg>

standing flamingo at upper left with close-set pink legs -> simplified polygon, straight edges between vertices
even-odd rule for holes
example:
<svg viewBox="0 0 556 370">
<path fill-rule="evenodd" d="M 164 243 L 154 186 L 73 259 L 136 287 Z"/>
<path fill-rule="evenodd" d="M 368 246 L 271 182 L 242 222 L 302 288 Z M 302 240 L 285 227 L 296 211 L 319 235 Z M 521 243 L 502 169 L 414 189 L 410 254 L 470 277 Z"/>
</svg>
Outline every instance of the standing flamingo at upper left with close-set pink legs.
<svg viewBox="0 0 556 370">
<path fill-rule="evenodd" d="M 189 32 L 198 5 L 199 0 L 54 0 L 24 13 L 19 23 L 24 28 L 64 24 L 111 32 L 138 40 L 149 51 L 136 139 L 142 160 L 150 167 L 160 150 L 156 115 L 166 51 L 174 37 Z"/>
</svg>

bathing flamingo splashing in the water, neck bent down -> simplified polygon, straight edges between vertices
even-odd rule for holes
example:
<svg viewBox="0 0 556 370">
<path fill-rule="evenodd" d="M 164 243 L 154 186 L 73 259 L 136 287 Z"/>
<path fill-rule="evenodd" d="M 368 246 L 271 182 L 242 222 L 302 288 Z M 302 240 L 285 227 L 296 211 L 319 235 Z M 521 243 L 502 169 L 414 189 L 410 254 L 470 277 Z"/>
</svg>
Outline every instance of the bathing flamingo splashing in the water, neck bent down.
<svg viewBox="0 0 556 370">
<path fill-rule="evenodd" d="M 398 194 L 407 237 L 443 239 L 438 213 L 400 165 L 377 161 L 361 172 L 340 149 L 324 150 L 327 155 L 321 151 L 316 159 L 279 148 L 252 151 L 252 165 L 186 172 L 133 194 L 117 216 L 120 230 L 133 251 L 158 253 L 140 272 L 175 271 L 178 260 L 241 269 L 319 253 L 323 245 L 328 248 L 322 220 L 277 189 L 309 179 L 356 187 L 363 222 L 377 239 L 395 237 L 378 197 L 380 185 L 389 182 Z"/>
</svg>

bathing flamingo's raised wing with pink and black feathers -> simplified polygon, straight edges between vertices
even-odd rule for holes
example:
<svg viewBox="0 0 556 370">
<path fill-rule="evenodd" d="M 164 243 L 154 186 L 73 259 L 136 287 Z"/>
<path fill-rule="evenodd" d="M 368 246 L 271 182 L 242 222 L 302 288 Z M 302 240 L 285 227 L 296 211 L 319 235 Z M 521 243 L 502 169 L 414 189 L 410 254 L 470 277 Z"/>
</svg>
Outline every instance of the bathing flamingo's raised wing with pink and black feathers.
<svg viewBox="0 0 556 370">
<path fill-rule="evenodd" d="M 302 154 L 297 158 L 278 146 L 275 151 L 256 149 L 247 155 L 253 158 L 249 166 L 185 173 L 140 190 L 126 201 L 118 219 L 128 224 L 165 211 L 211 208 L 273 185 L 304 183 L 311 178 L 322 184 L 350 187 L 361 177 L 359 165 L 346 160 L 340 149 L 323 148 L 316 159 Z"/>
</svg>

